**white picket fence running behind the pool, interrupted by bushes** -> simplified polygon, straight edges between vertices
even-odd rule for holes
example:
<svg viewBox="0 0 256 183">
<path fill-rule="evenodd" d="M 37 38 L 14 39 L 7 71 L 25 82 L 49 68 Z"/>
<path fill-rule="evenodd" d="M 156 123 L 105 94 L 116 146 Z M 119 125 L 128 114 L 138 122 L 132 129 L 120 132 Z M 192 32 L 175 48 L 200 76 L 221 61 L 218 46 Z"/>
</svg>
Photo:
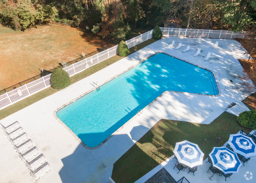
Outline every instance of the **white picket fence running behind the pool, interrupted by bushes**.
<svg viewBox="0 0 256 183">
<path fill-rule="evenodd" d="M 219 31 L 219 30 L 204 30 L 204 29 L 176 29 L 176 28 L 160 28 L 163 36 L 186 36 L 186 37 L 199 37 L 202 38 L 224 38 L 224 39 L 234 39 L 234 38 L 244 38 L 244 33 L 234 33 L 233 31 Z M 128 48 L 134 47 L 135 45 L 142 43 L 150 38 L 152 38 L 153 30 L 147 33 L 141 34 L 135 38 L 126 41 Z M 73 76 L 85 69 L 102 62 L 112 56 L 117 54 L 117 47 L 111 47 L 105 51 L 97 53 L 89 58 L 85 58 L 80 62 L 76 62 L 68 67 L 63 68 L 69 76 Z M 28 96 L 35 94 L 43 89 L 51 86 L 50 84 L 51 74 L 44 76 L 38 80 L 31 83 L 25 84 L 17 89 L 6 92 L 0 95 L 0 109 L 16 103 Z"/>
</svg>

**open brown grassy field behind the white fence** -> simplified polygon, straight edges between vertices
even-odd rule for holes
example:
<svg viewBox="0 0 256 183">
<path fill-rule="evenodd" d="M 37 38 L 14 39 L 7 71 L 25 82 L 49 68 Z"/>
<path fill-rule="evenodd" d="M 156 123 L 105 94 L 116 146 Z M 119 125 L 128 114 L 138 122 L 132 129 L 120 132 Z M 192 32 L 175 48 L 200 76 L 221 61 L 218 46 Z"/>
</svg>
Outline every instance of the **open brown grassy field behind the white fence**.
<svg viewBox="0 0 256 183">
<path fill-rule="evenodd" d="M 0 25 L 0 90 L 37 76 L 41 68 L 51 70 L 81 58 L 82 52 L 96 54 L 111 46 L 69 26 L 43 25 L 22 32 Z"/>
</svg>

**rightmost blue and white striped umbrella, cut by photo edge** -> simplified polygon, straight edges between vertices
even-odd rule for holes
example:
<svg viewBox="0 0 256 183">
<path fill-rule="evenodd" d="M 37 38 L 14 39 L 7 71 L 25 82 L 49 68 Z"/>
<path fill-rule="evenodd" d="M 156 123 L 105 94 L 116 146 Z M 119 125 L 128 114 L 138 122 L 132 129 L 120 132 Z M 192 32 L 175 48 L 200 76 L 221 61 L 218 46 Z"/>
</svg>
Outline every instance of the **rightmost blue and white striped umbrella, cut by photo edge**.
<svg viewBox="0 0 256 183">
<path fill-rule="evenodd" d="M 231 134 L 228 143 L 234 152 L 241 154 L 245 158 L 256 156 L 256 144 L 250 137 L 243 134 Z"/>
</svg>

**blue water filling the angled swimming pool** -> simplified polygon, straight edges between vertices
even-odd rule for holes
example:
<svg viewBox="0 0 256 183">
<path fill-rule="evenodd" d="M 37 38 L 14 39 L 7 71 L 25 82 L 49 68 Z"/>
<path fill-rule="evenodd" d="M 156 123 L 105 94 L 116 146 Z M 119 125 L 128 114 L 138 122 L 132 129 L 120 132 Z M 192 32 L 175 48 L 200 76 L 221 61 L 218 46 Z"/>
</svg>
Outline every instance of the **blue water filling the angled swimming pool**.
<svg viewBox="0 0 256 183">
<path fill-rule="evenodd" d="M 95 147 L 164 91 L 217 95 L 216 88 L 212 72 L 158 53 L 56 115 L 83 143 Z"/>
</svg>

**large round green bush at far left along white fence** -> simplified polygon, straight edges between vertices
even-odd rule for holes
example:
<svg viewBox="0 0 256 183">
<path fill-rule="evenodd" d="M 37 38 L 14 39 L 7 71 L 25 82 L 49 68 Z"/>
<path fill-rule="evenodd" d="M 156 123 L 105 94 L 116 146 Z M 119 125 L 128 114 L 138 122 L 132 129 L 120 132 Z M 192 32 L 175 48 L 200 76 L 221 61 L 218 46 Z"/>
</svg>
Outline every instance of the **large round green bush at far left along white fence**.
<svg viewBox="0 0 256 183">
<path fill-rule="evenodd" d="M 70 84 L 69 74 L 63 69 L 57 67 L 50 78 L 51 85 L 54 89 L 61 90 Z"/>
</svg>

